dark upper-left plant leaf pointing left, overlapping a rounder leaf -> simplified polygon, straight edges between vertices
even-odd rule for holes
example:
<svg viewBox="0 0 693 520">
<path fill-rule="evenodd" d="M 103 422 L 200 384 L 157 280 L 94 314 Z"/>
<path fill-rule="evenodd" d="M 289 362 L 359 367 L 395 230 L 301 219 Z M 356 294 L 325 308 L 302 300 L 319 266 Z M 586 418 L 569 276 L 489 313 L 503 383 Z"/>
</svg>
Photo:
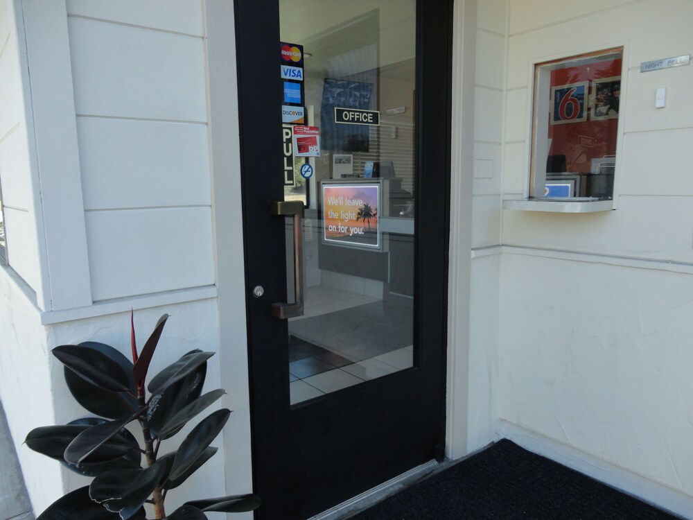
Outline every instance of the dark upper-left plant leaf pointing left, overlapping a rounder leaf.
<svg viewBox="0 0 693 520">
<path fill-rule="evenodd" d="M 70 370 L 99 388 L 112 392 L 130 390 L 128 373 L 103 352 L 79 345 L 60 345 L 51 352 Z"/>
</svg>

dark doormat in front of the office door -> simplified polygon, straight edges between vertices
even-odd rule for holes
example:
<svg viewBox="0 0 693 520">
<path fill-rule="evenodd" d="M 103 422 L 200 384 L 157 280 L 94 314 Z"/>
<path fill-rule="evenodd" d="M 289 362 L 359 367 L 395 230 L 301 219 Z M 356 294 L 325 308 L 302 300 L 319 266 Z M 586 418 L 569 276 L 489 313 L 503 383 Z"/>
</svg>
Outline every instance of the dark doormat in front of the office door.
<svg viewBox="0 0 693 520">
<path fill-rule="evenodd" d="M 350 520 L 470 519 L 676 517 L 509 440 L 501 440 Z"/>
</svg>

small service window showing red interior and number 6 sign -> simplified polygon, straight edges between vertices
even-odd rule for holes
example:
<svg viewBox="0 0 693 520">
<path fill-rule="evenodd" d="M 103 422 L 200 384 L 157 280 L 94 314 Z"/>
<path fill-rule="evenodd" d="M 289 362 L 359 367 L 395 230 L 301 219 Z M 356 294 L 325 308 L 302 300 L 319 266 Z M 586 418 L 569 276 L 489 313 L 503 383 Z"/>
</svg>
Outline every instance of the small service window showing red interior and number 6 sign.
<svg viewBox="0 0 693 520">
<path fill-rule="evenodd" d="M 529 196 L 610 200 L 623 49 L 534 66 Z"/>
</svg>

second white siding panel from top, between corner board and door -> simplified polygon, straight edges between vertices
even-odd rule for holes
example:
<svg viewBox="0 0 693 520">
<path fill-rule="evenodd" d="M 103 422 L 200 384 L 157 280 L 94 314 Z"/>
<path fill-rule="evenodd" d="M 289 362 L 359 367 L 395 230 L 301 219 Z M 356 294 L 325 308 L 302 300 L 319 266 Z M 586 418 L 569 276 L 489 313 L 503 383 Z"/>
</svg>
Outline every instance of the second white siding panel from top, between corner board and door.
<svg viewBox="0 0 693 520">
<path fill-rule="evenodd" d="M 206 121 L 201 38 L 69 19 L 78 114 Z"/>
</svg>

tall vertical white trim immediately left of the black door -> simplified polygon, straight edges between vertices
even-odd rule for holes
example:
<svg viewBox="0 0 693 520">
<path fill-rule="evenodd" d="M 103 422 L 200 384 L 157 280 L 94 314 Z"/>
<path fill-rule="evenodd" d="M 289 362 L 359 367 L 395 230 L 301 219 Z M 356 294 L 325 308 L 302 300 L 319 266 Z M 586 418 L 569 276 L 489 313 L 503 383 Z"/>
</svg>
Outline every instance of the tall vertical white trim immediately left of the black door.
<svg viewBox="0 0 693 520">
<path fill-rule="evenodd" d="M 203 10 L 221 385 L 234 410 L 222 433 L 224 469 L 227 492 L 236 494 L 253 487 L 236 16 L 227 0 L 204 0 Z M 252 519 L 252 514 L 234 517 Z"/>
</svg>

